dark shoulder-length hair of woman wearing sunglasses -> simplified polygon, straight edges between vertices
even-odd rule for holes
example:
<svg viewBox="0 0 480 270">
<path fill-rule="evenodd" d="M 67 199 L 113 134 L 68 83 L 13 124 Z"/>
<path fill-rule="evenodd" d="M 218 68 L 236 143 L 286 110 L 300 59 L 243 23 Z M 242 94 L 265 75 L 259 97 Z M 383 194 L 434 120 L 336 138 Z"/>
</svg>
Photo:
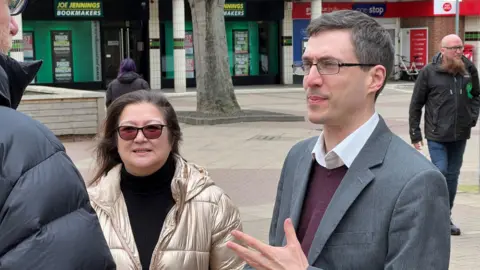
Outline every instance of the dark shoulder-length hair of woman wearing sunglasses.
<svg viewBox="0 0 480 270">
<path fill-rule="evenodd" d="M 130 104 L 150 103 L 155 105 L 163 114 L 168 128 L 168 140 L 172 145 L 171 154 L 179 155 L 179 144 L 182 141 L 182 131 L 177 120 L 177 114 L 167 97 L 161 93 L 137 90 L 117 98 L 107 109 L 103 132 L 95 149 L 98 170 L 92 180 L 96 182 L 106 175 L 113 167 L 122 163 L 117 149 L 117 127 L 120 115 Z"/>
</svg>

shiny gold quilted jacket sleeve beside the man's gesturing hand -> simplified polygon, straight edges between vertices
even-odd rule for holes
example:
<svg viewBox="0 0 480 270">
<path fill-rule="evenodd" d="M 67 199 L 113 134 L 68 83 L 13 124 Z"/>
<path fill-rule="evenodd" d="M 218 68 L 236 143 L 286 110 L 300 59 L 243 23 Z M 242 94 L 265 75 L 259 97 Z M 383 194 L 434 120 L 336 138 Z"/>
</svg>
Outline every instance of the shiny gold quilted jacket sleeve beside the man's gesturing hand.
<svg viewBox="0 0 480 270">
<path fill-rule="evenodd" d="M 215 213 L 215 224 L 212 235 L 212 250 L 210 252 L 211 270 L 243 269 L 245 262 L 235 252 L 227 248 L 229 241 L 236 241 L 231 232 L 242 230 L 240 212 L 233 202 L 223 194 L 218 202 Z"/>
</svg>

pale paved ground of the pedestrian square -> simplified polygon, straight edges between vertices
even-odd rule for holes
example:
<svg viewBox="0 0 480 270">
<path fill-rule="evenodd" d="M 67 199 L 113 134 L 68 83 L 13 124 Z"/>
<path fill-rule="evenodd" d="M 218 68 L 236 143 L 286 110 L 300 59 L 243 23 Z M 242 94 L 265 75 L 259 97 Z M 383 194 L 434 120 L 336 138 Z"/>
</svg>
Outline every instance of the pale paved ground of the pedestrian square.
<svg viewBox="0 0 480 270">
<path fill-rule="evenodd" d="M 272 110 L 305 115 L 301 89 L 281 87 L 238 94 L 243 109 Z M 247 94 L 248 93 L 248 94 Z M 377 111 L 397 135 L 408 142 L 408 103 L 411 86 L 388 85 L 377 101 Z M 177 111 L 194 110 L 191 95 L 171 95 Z M 268 242 L 273 202 L 284 158 L 296 142 L 319 134 L 321 127 L 308 122 L 238 123 L 217 126 L 182 125 L 181 153 L 206 166 L 216 183 L 240 207 L 244 230 Z M 480 265 L 480 195 L 478 185 L 479 128 L 472 132 L 461 172 L 460 189 L 453 210 L 462 236 L 452 238 L 451 268 L 477 269 Z M 65 142 L 68 154 L 84 177 L 92 175 L 92 141 Z M 425 154 L 427 152 L 425 151 Z"/>
</svg>

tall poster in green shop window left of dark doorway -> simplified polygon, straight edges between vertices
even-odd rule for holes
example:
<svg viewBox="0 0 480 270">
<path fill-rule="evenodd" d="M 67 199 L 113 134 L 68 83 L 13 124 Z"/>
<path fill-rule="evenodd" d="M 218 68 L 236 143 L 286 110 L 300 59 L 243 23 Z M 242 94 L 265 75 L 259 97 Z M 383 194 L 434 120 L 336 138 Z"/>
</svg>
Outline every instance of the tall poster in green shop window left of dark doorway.
<svg viewBox="0 0 480 270">
<path fill-rule="evenodd" d="M 72 31 L 50 31 L 53 82 L 73 82 Z"/>
</svg>

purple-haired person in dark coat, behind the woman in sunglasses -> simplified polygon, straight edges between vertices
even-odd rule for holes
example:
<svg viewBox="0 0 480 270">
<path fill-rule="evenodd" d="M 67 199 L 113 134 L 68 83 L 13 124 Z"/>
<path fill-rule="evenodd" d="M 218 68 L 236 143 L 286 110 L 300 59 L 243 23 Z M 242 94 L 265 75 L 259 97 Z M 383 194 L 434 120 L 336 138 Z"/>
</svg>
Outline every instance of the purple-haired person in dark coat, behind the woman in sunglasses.
<svg viewBox="0 0 480 270">
<path fill-rule="evenodd" d="M 136 70 L 135 62 L 131 58 L 123 59 L 122 63 L 120 63 L 120 71 L 117 78 L 107 86 L 105 98 L 107 108 L 121 95 L 136 90 L 150 90 L 147 81 L 142 79 Z"/>
</svg>

